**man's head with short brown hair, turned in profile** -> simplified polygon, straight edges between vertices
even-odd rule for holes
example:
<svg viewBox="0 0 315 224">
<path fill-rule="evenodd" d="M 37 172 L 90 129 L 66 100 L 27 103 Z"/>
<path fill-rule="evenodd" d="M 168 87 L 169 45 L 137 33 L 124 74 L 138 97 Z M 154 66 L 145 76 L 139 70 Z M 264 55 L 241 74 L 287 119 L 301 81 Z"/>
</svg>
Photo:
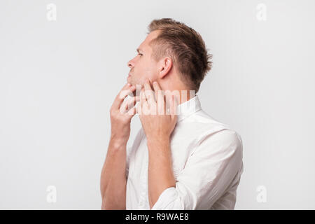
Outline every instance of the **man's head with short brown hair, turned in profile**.
<svg viewBox="0 0 315 224">
<path fill-rule="evenodd" d="M 153 20 L 148 31 L 138 55 L 128 62 L 128 82 L 143 85 L 148 78 L 164 90 L 198 92 L 212 64 L 200 34 L 172 19 Z"/>
</svg>

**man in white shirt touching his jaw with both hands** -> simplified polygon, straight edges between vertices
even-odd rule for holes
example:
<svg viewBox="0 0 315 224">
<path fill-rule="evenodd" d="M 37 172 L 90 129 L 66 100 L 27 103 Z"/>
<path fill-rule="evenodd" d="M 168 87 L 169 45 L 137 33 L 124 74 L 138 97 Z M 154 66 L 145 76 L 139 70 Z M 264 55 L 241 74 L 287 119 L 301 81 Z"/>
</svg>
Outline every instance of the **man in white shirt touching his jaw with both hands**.
<svg viewBox="0 0 315 224">
<path fill-rule="evenodd" d="M 191 94 L 211 69 L 211 55 L 200 34 L 181 22 L 153 20 L 148 29 L 111 106 L 102 209 L 234 209 L 241 137 Z M 137 87 L 141 94 L 125 100 Z M 135 113 L 142 128 L 126 150 Z"/>
</svg>

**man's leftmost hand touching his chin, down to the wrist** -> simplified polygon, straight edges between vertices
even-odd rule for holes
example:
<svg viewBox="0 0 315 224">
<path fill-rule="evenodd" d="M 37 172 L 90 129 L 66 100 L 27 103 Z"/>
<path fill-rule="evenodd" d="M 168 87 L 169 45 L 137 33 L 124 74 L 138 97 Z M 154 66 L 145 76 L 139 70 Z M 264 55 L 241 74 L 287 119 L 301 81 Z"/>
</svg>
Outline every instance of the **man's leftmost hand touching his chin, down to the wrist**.
<svg viewBox="0 0 315 224">
<path fill-rule="evenodd" d="M 136 90 L 134 85 L 127 83 L 115 98 L 111 106 L 111 139 L 121 145 L 127 144 L 130 137 L 130 121 L 136 114 L 134 104 L 139 101 L 139 96 L 126 99 L 127 95 Z"/>
</svg>

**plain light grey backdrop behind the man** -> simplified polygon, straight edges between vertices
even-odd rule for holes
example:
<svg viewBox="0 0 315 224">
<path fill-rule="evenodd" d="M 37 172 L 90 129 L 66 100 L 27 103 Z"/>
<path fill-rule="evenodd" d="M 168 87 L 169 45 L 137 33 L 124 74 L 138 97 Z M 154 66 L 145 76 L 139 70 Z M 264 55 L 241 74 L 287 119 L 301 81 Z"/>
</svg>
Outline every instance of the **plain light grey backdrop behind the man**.
<svg viewBox="0 0 315 224">
<path fill-rule="evenodd" d="M 243 140 L 235 209 L 315 209 L 314 10 L 314 1 L 1 0 L 0 209 L 100 209 L 109 109 L 155 18 L 193 27 L 214 55 L 198 94 Z M 135 116 L 128 146 L 140 127 Z"/>
</svg>

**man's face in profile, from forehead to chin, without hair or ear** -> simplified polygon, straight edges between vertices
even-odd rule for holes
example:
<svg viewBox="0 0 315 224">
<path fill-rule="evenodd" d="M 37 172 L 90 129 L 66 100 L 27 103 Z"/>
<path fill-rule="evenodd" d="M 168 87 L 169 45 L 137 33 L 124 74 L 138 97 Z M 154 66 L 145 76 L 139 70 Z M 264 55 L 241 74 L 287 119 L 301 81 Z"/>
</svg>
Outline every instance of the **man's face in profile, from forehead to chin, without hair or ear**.
<svg viewBox="0 0 315 224">
<path fill-rule="evenodd" d="M 158 62 L 151 57 L 150 41 L 158 36 L 159 31 L 152 31 L 137 49 L 138 55 L 128 62 L 130 73 L 127 82 L 132 85 L 144 85 L 146 78 L 158 80 Z"/>
</svg>

